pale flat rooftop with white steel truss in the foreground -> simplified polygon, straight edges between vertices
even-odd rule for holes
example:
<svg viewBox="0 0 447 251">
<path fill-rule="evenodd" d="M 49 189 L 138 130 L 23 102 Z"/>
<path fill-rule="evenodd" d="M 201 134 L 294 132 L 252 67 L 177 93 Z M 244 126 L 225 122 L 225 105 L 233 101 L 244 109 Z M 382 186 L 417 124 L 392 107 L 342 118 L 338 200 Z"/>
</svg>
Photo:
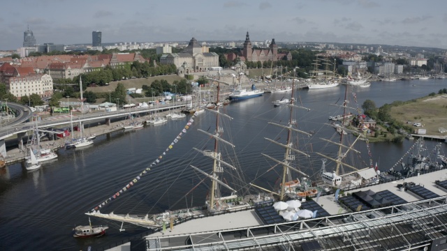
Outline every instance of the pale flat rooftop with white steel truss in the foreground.
<svg viewBox="0 0 447 251">
<path fill-rule="evenodd" d="M 318 204 L 330 216 L 263 225 L 254 210 L 201 218 L 145 237 L 146 250 L 261 250 L 279 246 L 298 250 L 418 250 L 447 240 L 447 191 L 434 184 L 447 169 L 349 192 L 388 190 L 405 204 L 348 212 L 334 195 Z M 423 199 L 397 184 L 414 182 L 439 195 Z M 441 240 L 441 241 L 440 241 Z M 443 250 L 443 249 L 437 249 Z"/>
</svg>

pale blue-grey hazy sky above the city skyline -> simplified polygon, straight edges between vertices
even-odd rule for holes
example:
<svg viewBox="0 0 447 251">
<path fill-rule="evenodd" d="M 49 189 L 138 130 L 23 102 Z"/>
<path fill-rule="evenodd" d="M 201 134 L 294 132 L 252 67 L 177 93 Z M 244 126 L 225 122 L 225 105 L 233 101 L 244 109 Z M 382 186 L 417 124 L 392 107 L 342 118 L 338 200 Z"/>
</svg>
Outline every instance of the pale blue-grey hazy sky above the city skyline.
<svg viewBox="0 0 447 251">
<path fill-rule="evenodd" d="M 0 2 L 0 50 L 38 44 L 275 39 L 447 49 L 446 0 L 15 0 Z"/>
</svg>

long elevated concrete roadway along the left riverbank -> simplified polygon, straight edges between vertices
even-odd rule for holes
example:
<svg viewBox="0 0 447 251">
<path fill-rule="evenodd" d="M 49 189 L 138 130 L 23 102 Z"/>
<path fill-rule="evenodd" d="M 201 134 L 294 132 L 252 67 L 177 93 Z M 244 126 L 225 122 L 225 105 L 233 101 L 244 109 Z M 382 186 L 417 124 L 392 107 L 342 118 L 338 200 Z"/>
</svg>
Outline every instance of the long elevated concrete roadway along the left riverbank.
<svg viewBox="0 0 447 251">
<path fill-rule="evenodd" d="M 8 104 L 9 105 L 9 104 Z M 140 115 L 140 114 L 153 114 L 155 112 L 164 112 L 169 109 L 179 109 L 186 107 L 186 104 L 167 104 L 167 105 L 156 105 L 154 107 L 136 107 L 131 109 L 119 109 L 115 112 L 93 112 L 87 114 L 81 114 L 79 116 L 53 116 L 41 121 L 30 121 L 22 123 L 23 119 L 15 121 L 10 121 L 8 125 L 0 125 L 0 153 L 6 156 L 6 139 L 11 139 L 13 137 L 17 138 L 19 142 L 19 149 L 24 149 L 23 137 L 27 136 L 30 130 L 35 130 L 36 126 L 38 128 L 54 128 L 54 127 L 64 127 L 69 126 L 71 123 L 93 123 L 96 121 L 103 121 L 105 124 L 110 126 L 111 119 L 120 119 L 129 115 Z M 31 111 L 22 112 L 27 114 L 27 118 L 30 117 Z M 62 115 L 62 114 L 61 114 Z M 41 130 L 41 129 L 39 129 Z M 50 132 L 50 130 L 47 130 Z M 54 134 L 59 132 L 51 131 Z"/>
</svg>

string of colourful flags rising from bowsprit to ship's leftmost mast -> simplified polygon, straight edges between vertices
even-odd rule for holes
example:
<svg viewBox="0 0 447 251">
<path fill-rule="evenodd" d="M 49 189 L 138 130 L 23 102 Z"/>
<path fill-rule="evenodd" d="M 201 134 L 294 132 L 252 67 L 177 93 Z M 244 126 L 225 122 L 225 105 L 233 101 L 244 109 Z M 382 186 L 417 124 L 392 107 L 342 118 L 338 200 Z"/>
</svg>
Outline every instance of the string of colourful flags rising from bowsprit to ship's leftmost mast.
<svg viewBox="0 0 447 251">
<path fill-rule="evenodd" d="M 168 153 L 168 151 L 170 151 L 170 149 L 173 149 L 174 145 L 177 144 L 177 142 L 179 142 L 179 139 L 182 139 L 182 135 L 184 135 L 186 132 L 188 132 L 189 127 L 194 122 L 194 118 L 195 118 L 195 116 L 192 116 L 191 119 L 189 119 L 188 123 L 186 123 L 186 126 L 184 126 L 184 128 L 182 129 L 181 132 L 179 132 L 179 134 L 177 135 L 177 137 L 175 137 L 173 142 L 171 142 L 169 144 L 169 146 L 166 148 L 166 150 L 163 151 L 163 153 L 161 155 L 159 155 L 159 157 L 156 158 L 156 160 L 154 160 L 154 162 L 152 162 L 152 164 L 149 167 L 146 167 L 144 170 L 142 170 L 142 172 L 140 172 L 140 174 L 138 174 L 138 176 L 133 178 L 133 180 L 130 181 L 129 183 L 127 183 L 127 185 L 125 185 L 121 190 L 119 190 L 118 192 L 116 192 L 115 194 L 110 196 L 108 199 L 103 201 L 101 204 L 98 204 L 98 206 L 95 206 L 93 209 L 91 209 L 91 211 L 98 211 L 100 208 L 102 208 L 106 204 L 110 203 L 110 201 L 117 199 L 117 197 L 119 197 L 119 195 L 121 195 L 123 192 L 126 192 L 133 185 L 135 185 L 135 183 L 140 181 L 141 177 L 144 176 L 145 174 L 147 174 L 147 172 L 150 171 L 151 167 L 154 167 L 155 165 L 157 165 L 161 161 L 163 156 L 165 156 L 166 153 Z"/>
</svg>

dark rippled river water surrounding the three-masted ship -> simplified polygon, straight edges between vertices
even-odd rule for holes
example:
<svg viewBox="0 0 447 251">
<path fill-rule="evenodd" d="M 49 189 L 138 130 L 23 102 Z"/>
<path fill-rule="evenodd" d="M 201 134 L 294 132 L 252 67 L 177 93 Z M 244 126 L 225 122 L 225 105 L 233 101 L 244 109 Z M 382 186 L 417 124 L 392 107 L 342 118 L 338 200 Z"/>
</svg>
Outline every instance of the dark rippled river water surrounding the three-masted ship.
<svg viewBox="0 0 447 251">
<path fill-rule="evenodd" d="M 352 107 L 361 107 L 367 99 L 380 107 L 395 100 L 410 100 L 431 92 L 437 93 L 446 87 L 447 80 L 444 79 L 373 82 L 367 88 L 350 87 L 348 100 Z M 344 93 L 345 86 L 298 91 L 298 105 L 311 109 L 300 112 L 300 118 L 297 118 L 300 130 L 315 131 L 315 138 L 332 137 L 333 128 L 324 126 L 324 123 L 327 123 L 328 116 L 342 113 L 342 109 L 330 104 L 342 105 Z M 238 162 L 247 181 L 256 179 L 256 183 L 270 184 L 272 187 L 271 183 L 277 179 L 276 171 L 258 177 L 262 173 L 260 167 L 265 165 L 265 158 L 260 153 L 268 152 L 263 137 L 277 140 L 281 137 L 266 126 L 267 122 L 284 123 L 288 118 L 287 107 L 274 108 L 271 102 L 282 96 L 289 98 L 289 95 L 270 93 L 225 107 L 234 120 L 221 121 L 231 123 L 230 137 L 235 142 Z M 102 249 L 129 236 L 141 234 L 142 229 L 118 231 L 119 225 L 109 225 L 106 236 L 80 240 L 73 238 L 72 229 L 75 225 L 87 225 L 85 212 L 114 195 L 163 152 L 166 155 L 152 168 L 153 171 L 142 176 L 121 198 L 112 201 L 113 204 L 105 211 L 157 213 L 167 208 L 182 208 L 186 204 L 202 205 L 207 194 L 206 183 L 198 185 L 188 197 L 184 195 L 200 181 L 189 167 L 193 161 L 189 156 L 191 147 L 207 144 L 202 141 L 203 134 L 197 129 L 213 128 L 215 116 L 211 115 L 195 118 L 191 128 L 168 152 L 166 149 L 182 131 L 186 119 L 169 121 L 163 126 L 147 126 L 135 132 L 103 135 L 97 137 L 94 146 L 85 149 L 60 149 L 58 160 L 45 163 L 34 172 L 28 172 L 22 163 L 0 169 L 0 250 L 87 250 L 88 246 Z M 432 147 L 438 142 L 427 140 L 426 143 L 427 147 Z M 379 169 L 386 171 L 412 144 L 413 141 L 407 139 L 402 144 L 369 144 L 364 154 L 370 155 L 374 164 L 379 162 Z M 315 151 L 322 143 L 310 145 Z M 443 144 L 443 151 L 447 152 L 446 144 Z M 274 151 L 273 154 L 281 156 L 281 151 Z M 312 158 L 303 169 L 318 173 L 320 159 Z M 198 165 L 206 165 L 204 161 L 199 159 Z M 94 224 L 101 223 L 94 218 L 91 220 Z"/>
</svg>

